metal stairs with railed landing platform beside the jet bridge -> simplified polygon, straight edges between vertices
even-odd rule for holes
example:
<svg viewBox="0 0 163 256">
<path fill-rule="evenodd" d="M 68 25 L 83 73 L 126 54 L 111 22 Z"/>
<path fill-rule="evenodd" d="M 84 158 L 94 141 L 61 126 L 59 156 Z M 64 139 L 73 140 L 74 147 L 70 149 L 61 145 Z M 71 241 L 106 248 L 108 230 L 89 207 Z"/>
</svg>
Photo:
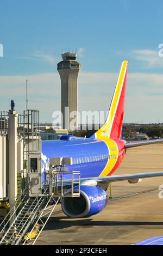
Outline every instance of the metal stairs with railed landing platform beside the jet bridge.
<svg viewBox="0 0 163 256">
<path fill-rule="evenodd" d="M 71 180 L 64 179 L 66 175 L 68 177 L 71 175 Z M 74 182 L 74 178 L 77 175 L 78 180 L 76 179 L 77 181 Z M 80 196 L 79 172 L 60 172 L 56 168 L 51 168 L 45 176 L 45 184 L 41 193 L 39 192 L 36 197 L 30 196 L 29 188 L 27 187 L 0 224 L 0 245 L 34 245 L 60 198 Z M 73 187 L 76 185 L 78 186 L 78 191 L 73 191 Z M 70 191 L 68 193 L 67 187 L 69 187 L 68 191 Z M 49 203 L 53 203 L 51 210 L 47 208 Z M 37 229 L 35 239 L 27 243 L 38 224 L 40 229 Z"/>
</svg>

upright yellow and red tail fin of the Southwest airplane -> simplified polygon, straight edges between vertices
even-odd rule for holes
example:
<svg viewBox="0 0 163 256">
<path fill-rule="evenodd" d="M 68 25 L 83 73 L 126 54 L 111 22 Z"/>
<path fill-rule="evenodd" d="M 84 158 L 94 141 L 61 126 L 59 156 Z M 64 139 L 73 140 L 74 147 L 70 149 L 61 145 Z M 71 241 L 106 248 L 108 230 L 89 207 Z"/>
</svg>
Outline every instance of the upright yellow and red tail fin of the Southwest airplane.
<svg viewBox="0 0 163 256">
<path fill-rule="evenodd" d="M 105 124 L 93 136 L 91 136 L 91 138 L 121 138 L 124 114 L 124 99 L 126 93 L 127 69 L 128 62 L 127 60 L 124 60 L 122 62 L 120 75 L 118 77 L 114 95 L 112 97 L 108 117 L 105 121 Z"/>
</svg>

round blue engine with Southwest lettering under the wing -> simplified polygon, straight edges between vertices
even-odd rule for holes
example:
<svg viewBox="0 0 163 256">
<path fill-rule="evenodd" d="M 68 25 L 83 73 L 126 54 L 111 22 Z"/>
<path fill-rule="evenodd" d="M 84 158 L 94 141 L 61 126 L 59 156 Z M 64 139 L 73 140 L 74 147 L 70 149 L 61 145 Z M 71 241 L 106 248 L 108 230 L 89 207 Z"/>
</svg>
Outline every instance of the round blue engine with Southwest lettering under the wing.
<svg viewBox="0 0 163 256">
<path fill-rule="evenodd" d="M 76 188 L 74 187 L 74 191 Z M 68 217 L 83 218 L 98 214 L 107 202 L 107 194 L 101 187 L 83 185 L 80 186 L 80 197 L 62 198 L 61 207 Z"/>
</svg>

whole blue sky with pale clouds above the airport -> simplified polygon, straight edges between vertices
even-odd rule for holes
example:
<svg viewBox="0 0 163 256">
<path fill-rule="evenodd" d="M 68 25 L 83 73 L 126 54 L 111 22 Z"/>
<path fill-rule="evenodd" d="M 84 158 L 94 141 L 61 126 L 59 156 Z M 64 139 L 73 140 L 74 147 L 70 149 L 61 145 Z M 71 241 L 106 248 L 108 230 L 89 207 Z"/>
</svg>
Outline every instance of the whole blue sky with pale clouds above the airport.
<svg viewBox="0 0 163 256">
<path fill-rule="evenodd" d="M 40 109 L 42 121 L 52 120 L 52 112 L 60 109 L 60 54 L 77 48 L 82 63 L 80 111 L 108 109 L 121 62 L 127 59 L 125 120 L 163 122 L 163 57 L 158 56 L 163 42 L 162 7 L 162 1 L 1 2 L 0 108 L 8 108 L 13 98 L 22 111 L 30 78 L 30 108 Z M 96 76 L 101 77 L 99 84 Z"/>
</svg>

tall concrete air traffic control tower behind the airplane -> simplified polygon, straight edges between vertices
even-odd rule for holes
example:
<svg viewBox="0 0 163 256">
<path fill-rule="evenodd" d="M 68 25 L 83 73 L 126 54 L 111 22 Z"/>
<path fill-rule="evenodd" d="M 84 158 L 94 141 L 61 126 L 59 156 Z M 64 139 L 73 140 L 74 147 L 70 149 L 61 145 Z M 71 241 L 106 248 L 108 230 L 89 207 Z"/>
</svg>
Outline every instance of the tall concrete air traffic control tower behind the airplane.
<svg viewBox="0 0 163 256">
<path fill-rule="evenodd" d="M 61 55 L 63 60 L 57 64 L 57 70 L 61 79 L 62 128 L 73 131 L 78 129 L 77 115 L 73 111 L 78 111 L 78 74 L 81 64 L 76 61 L 77 53 L 65 52 Z"/>
</svg>

